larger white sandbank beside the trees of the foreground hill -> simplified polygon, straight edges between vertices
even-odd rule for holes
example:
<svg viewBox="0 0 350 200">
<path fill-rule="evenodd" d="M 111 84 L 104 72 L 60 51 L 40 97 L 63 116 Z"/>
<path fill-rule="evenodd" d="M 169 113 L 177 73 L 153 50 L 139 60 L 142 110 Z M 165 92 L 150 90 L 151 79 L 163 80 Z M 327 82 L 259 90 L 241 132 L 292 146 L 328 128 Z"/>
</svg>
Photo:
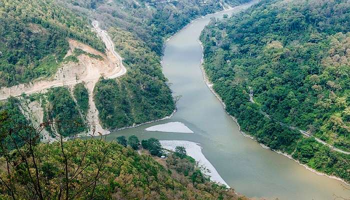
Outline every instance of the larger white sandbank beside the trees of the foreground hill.
<svg viewBox="0 0 350 200">
<path fill-rule="evenodd" d="M 183 146 L 186 148 L 187 155 L 193 157 L 197 161 L 200 169 L 210 176 L 210 180 L 226 185 L 228 184 L 222 179 L 220 174 L 216 171 L 215 167 L 205 158 L 201 152 L 201 147 L 198 143 L 185 140 L 160 140 L 163 148 L 168 150 L 175 150 L 176 146 Z"/>
</svg>

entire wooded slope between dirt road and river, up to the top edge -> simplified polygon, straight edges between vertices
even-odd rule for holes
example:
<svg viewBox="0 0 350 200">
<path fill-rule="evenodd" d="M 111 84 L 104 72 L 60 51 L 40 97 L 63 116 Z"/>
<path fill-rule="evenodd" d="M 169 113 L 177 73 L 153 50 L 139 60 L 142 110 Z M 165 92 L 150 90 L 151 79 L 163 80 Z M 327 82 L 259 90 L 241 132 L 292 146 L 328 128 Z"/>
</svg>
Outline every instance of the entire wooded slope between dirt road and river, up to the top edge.
<svg viewBox="0 0 350 200">
<path fill-rule="evenodd" d="M 160 64 L 164 40 L 196 17 L 246 1 L 64 0 L 100 21 L 127 67 L 117 80 L 101 78 L 96 84 L 102 126 L 117 129 L 170 115 L 175 105 Z"/>
</svg>

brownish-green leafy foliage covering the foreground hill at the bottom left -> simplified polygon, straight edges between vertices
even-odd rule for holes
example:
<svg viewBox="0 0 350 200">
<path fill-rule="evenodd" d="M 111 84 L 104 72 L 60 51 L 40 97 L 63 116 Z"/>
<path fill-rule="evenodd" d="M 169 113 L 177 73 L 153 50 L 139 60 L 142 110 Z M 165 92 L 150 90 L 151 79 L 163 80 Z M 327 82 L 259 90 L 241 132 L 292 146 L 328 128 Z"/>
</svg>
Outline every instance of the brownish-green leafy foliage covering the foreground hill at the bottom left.
<svg viewBox="0 0 350 200">
<path fill-rule="evenodd" d="M 11 183 L 11 187 L 15 188 L 13 195 L 17 199 L 38 197 L 38 192 L 35 193 L 31 185 L 31 178 L 38 180 L 44 199 L 65 199 L 66 196 L 67 199 L 217 199 L 219 196 L 224 199 L 247 199 L 235 194 L 233 189 L 209 181 L 196 170 L 193 163 L 185 160 L 188 176 L 203 177 L 202 181 L 198 182 L 198 178 L 192 181 L 193 178 L 174 170 L 175 166 L 169 162 L 166 166 L 161 165 L 151 156 L 139 155 L 114 141 L 109 143 L 101 139 L 75 139 L 62 144 L 40 143 L 35 146 L 35 163 L 29 156 L 27 162 L 24 162 L 19 153 L 14 154 L 12 159 L 18 163 L 18 167 L 12 168 L 10 176 L 5 170 L 5 162 L 1 160 L 1 182 L 5 181 L 2 183 L 6 185 Z M 67 193 L 61 193 L 63 187 L 59 184 L 65 182 L 66 165 L 61 158 L 61 148 L 68 160 L 67 171 L 78 174 L 69 177 L 71 187 Z M 37 169 L 38 176 L 32 174 L 30 177 L 25 165 Z M 0 184 L 0 194 L 4 199 L 11 198 L 5 184 Z"/>
</svg>

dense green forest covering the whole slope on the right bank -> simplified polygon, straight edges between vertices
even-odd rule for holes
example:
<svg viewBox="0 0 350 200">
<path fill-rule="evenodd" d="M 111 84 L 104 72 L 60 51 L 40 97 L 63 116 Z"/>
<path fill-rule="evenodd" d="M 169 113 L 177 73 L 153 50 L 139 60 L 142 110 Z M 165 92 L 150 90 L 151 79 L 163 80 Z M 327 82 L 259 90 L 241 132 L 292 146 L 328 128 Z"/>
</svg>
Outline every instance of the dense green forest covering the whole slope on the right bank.
<svg viewBox="0 0 350 200">
<path fill-rule="evenodd" d="M 350 180 L 350 4 L 261 0 L 203 30 L 204 69 L 243 131 Z M 249 101 L 249 93 L 253 95 Z"/>
</svg>

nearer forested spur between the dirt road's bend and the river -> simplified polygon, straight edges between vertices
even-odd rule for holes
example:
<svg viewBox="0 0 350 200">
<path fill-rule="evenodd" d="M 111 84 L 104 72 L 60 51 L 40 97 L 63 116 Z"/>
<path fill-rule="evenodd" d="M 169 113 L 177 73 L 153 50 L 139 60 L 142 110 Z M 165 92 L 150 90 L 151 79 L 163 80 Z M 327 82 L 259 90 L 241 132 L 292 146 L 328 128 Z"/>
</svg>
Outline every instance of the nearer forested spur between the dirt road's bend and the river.
<svg viewBox="0 0 350 200">
<path fill-rule="evenodd" d="M 117 81 L 102 79 L 95 86 L 99 118 L 106 128 L 121 128 L 170 115 L 175 109 L 161 72 L 160 57 L 130 32 L 110 28 L 128 72 Z"/>
</svg>

